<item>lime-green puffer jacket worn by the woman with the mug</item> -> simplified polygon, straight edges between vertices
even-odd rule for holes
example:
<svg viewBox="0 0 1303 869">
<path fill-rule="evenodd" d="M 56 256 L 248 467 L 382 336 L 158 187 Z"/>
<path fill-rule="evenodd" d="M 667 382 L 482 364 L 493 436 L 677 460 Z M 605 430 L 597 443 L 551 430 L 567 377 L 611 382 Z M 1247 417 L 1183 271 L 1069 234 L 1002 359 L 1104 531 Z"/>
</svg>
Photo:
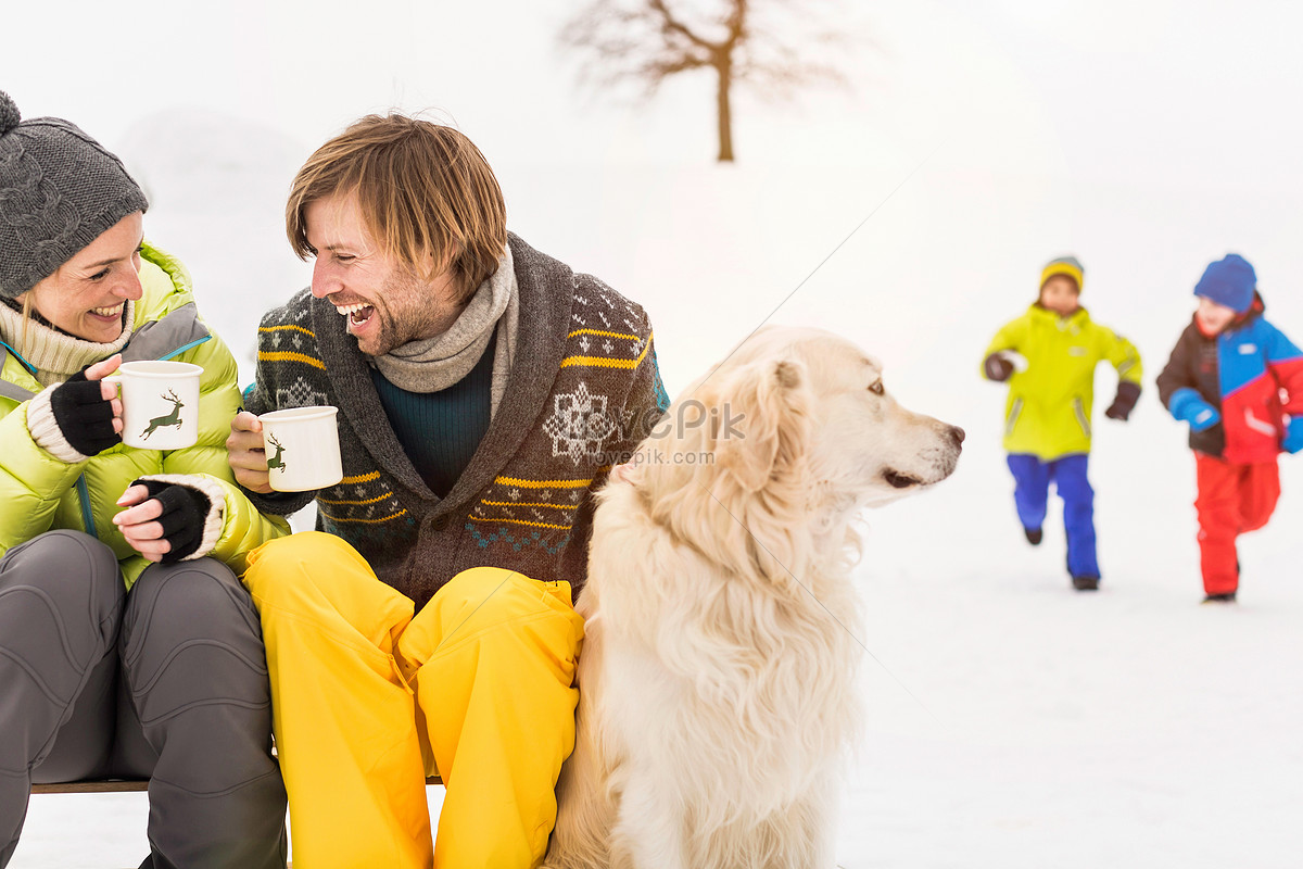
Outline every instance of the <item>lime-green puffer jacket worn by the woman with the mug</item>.
<svg viewBox="0 0 1303 869">
<path fill-rule="evenodd" d="M 86 461 L 66 464 L 42 449 L 27 431 L 27 400 L 43 388 L 16 348 L 0 341 L 0 555 L 55 529 L 86 532 L 117 555 L 128 588 L 149 567 L 113 525 L 117 499 L 145 474 L 202 474 L 225 495 L 223 525 L 208 552 L 236 573 L 245 554 L 289 533 L 280 517 L 259 513 L 236 486 L 227 464 L 231 417 L 240 406 L 236 361 L 198 317 L 185 267 L 145 245 L 141 254 L 145 294 L 136 302 L 136 323 L 122 361 L 179 360 L 203 366 L 199 440 L 193 447 L 159 452 L 117 444 Z"/>
</svg>

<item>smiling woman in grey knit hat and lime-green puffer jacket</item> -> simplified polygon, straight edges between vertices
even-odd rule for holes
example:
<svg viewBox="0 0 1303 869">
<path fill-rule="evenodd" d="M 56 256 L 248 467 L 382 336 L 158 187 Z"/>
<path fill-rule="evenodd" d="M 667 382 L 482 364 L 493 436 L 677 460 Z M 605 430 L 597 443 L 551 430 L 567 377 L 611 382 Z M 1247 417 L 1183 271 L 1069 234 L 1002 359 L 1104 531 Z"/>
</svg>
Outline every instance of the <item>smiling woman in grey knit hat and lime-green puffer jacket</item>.
<svg viewBox="0 0 1303 869">
<path fill-rule="evenodd" d="M 145 194 L 60 119 L 0 91 L 0 868 L 33 782 L 150 778 L 142 866 L 285 865 L 258 615 L 244 554 L 288 532 L 233 485 L 231 352 Z M 203 367 L 199 440 L 121 443 L 102 378 Z"/>
</svg>

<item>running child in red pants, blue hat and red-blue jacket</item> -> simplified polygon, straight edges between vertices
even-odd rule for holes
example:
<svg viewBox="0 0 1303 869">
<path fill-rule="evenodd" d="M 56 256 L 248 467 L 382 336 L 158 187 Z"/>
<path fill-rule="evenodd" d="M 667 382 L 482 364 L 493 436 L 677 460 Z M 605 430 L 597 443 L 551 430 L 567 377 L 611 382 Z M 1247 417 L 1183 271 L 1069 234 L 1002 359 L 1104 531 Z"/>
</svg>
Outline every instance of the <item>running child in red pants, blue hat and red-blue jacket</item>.
<svg viewBox="0 0 1303 869">
<path fill-rule="evenodd" d="M 1205 602 L 1233 602 L 1235 538 L 1267 524 L 1281 495 L 1276 457 L 1303 448 L 1303 350 L 1263 317 L 1238 254 L 1195 284 L 1199 309 L 1158 375 L 1158 397 L 1190 425 Z"/>
</svg>

